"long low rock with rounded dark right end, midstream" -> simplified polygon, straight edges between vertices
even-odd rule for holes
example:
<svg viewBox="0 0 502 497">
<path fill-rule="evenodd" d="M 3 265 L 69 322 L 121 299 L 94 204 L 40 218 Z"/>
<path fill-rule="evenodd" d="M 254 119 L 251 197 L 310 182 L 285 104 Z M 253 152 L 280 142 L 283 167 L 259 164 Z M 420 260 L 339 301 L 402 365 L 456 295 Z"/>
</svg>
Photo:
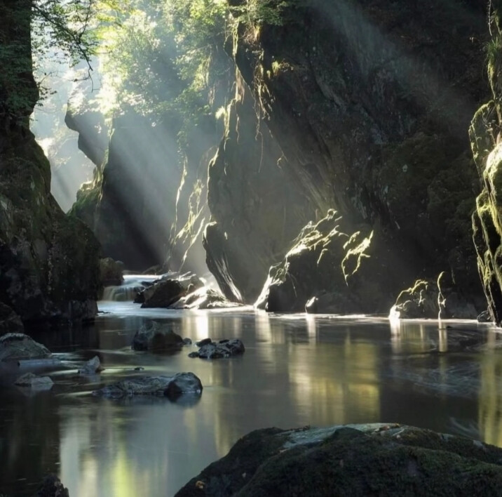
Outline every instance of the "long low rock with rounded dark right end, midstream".
<svg viewBox="0 0 502 497">
<path fill-rule="evenodd" d="M 118 399 L 133 395 L 165 395 L 174 399 L 182 394 L 201 395 L 203 386 L 194 373 L 177 373 L 175 376 L 136 376 L 95 390 L 93 395 Z"/>
</svg>

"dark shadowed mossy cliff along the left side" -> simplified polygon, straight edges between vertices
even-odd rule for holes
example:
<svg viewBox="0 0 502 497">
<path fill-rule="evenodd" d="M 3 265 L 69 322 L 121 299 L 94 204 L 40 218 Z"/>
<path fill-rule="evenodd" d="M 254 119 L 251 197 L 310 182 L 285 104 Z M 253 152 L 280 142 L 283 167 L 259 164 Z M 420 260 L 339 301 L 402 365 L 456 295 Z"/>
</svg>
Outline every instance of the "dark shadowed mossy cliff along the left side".
<svg viewBox="0 0 502 497">
<path fill-rule="evenodd" d="M 50 194 L 50 165 L 29 132 L 31 2 L 0 7 L 0 301 L 22 320 L 93 317 L 99 245 Z"/>
</svg>

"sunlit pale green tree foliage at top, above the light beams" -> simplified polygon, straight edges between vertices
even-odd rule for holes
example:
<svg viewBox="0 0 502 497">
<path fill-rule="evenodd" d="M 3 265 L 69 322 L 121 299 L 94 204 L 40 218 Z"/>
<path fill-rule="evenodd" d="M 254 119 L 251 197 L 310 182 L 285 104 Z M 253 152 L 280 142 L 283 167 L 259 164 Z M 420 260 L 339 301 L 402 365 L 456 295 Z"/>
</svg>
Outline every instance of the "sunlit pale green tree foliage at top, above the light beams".
<svg viewBox="0 0 502 497">
<path fill-rule="evenodd" d="M 280 25 L 298 0 L 102 0 L 102 71 L 111 110 L 135 112 L 156 122 L 186 126 L 212 115 L 218 86 L 228 79 L 226 39 L 239 22 Z M 235 2 L 234 2 L 235 3 Z"/>
</svg>

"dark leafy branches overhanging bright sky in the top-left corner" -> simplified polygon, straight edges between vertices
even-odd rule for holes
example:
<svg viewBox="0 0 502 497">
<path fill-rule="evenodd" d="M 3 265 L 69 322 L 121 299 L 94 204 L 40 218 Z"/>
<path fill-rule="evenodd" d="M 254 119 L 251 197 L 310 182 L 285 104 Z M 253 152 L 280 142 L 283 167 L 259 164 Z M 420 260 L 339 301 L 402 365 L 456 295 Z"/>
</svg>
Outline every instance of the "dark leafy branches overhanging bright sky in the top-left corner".
<svg viewBox="0 0 502 497">
<path fill-rule="evenodd" d="M 32 77 L 44 56 L 65 55 L 74 62 L 90 54 L 96 41 L 90 31 L 95 0 L 19 0 L 0 4 L 1 115 L 18 121 L 48 94 L 43 80 Z"/>
</svg>

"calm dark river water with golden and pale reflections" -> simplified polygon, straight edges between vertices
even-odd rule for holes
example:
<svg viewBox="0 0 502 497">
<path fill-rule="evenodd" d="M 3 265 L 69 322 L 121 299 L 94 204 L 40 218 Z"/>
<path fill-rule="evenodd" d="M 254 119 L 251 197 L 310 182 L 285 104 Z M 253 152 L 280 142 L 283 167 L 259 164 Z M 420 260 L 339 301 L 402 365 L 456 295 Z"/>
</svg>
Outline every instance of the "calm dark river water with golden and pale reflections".
<svg viewBox="0 0 502 497">
<path fill-rule="evenodd" d="M 398 422 L 502 446 L 502 335 L 490 326 L 116 302 L 100 310 L 94 326 L 36 336 L 65 364 L 50 371 L 52 390 L 0 385 L 0 494 L 32 495 L 55 472 L 71 497 L 173 496 L 239 437 L 270 426 Z M 144 319 L 194 342 L 240 338 L 246 352 L 212 362 L 187 357 L 195 345 L 133 352 Z M 105 371 L 78 376 L 95 354 Z M 90 395 L 125 376 L 181 371 L 201 378 L 200 399 Z"/>
</svg>

